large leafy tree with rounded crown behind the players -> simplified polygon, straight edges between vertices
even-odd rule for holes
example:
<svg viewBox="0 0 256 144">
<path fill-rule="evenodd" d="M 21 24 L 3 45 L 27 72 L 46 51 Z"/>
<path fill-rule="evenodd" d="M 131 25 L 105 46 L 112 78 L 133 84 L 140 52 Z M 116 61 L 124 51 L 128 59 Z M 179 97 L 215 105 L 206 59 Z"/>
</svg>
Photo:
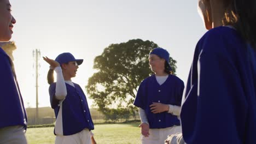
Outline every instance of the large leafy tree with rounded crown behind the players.
<svg viewBox="0 0 256 144">
<path fill-rule="evenodd" d="M 153 41 L 133 39 L 109 45 L 94 59 L 98 72 L 89 78 L 86 90 L 100 111 L 133 107 L 139 83 L 152 74 L 148 54 L 155 47 L 158 45 Z M 170 58 L 170 62 L 175 74 L 176 61 Z"/>
</svg>

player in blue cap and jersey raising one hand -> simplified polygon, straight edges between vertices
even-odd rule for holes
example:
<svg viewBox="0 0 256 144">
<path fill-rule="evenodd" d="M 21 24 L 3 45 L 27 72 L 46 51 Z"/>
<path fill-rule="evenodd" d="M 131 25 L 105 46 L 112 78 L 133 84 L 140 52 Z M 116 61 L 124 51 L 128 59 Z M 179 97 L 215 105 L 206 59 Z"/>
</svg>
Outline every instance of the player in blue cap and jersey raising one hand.
<svg viewBox="0 0 256 144">
<path fill-rule="evenodd" d="M 90 130 L 94 129 L 94 123 L 88 103 L 82 88 L 71 81 L 83 59 L 75 59 L 66 52 L 57 56 L 55 61 L 48 57 L 44 60 L 50 64 L 48 83 L 51 107 L 56 116 L 55 143 L 91 143 Z M 57 74 L 56 82 L 53 70 Z"/>
</svg>

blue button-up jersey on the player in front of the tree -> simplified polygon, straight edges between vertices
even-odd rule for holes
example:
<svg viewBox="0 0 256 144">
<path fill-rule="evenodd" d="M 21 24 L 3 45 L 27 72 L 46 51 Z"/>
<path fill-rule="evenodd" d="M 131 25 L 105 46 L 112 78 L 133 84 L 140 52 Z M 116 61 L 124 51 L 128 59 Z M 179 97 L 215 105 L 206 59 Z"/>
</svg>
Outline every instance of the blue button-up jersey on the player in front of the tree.
<svg viewBox="0 0 256 144">
<path fill-rule="evenodd" d="M 184 83 L 174 75 L 168 75 L 166 81 L 159 85 L 155 75 L 147 77 L 141 82 L 134 101 L 134 105 L 145 110 L 150 129 L 168 128 L 180 125 L 177 116 L 168 112 L 152 113 L 149 105 L 162 103 L 181 106 Z"/>
</svg>

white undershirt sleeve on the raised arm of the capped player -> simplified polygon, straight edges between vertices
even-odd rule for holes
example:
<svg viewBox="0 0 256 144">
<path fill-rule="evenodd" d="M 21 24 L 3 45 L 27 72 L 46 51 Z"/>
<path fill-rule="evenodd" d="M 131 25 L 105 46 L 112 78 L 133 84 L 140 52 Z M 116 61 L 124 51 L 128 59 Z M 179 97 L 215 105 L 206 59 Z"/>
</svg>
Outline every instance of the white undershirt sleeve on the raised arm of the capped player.
<svg viewBox="0 0 256 144">
<path fill-rule="evenodd" d="M 61 67 L 56 67 L 54 69 L 54 71 L 57 74 L 55 97 L 58 100 L 62 100 L 62 99 L 65 99 L 65 97 L 67 95 L 66 83 L 65 83 L 64 77 L 62 75 Z"/>
</svg>

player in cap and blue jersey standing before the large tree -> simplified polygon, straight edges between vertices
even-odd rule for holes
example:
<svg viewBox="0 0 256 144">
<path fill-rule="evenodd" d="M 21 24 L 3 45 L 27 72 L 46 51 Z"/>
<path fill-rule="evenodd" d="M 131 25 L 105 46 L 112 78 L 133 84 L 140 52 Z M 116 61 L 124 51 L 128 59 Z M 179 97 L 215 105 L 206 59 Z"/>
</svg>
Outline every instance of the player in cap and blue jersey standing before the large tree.
<svg viewBox="0 0 256 144">
<path fill-rule="evenodd" d="M 148 59 L 155 74 L 141 82 L 133 104 L 139 107 L 142 143 L 164 143 L 168 135 L 181 132 L 178 116 L 184 83 L 171 75 L 165 49 L 153 49 Z"/>
</svg>

